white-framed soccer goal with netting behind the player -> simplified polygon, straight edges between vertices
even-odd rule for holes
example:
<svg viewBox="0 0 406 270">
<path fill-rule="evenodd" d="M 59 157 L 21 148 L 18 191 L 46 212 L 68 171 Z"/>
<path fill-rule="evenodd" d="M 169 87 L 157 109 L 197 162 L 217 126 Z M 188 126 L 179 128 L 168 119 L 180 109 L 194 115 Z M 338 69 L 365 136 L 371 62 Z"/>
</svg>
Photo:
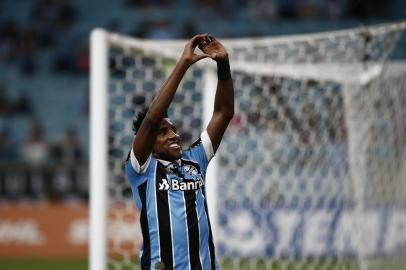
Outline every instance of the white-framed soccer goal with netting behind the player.
<svg viewBox="0 0 406 270">
<path fill-rule="evenodd" d="M 405 27 L 224 41 L 235 117 L 206 177 L 222 269 L 406 267 L 406 64 L 390 61 Z M 92 33 L 92 270 L 139 269 L 123 164 L 136 112 L 185 42 Z M 185 147 L 211 117 L 216 82 L 203 60 L 174 97 Z"/>
</svg>

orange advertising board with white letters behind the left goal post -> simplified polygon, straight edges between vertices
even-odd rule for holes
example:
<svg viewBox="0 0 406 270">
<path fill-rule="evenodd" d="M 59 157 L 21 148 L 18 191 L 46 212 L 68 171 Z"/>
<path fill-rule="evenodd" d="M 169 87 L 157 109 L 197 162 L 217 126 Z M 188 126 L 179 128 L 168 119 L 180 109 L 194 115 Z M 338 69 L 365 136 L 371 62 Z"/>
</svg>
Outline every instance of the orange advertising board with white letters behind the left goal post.
<svg viewBox="0 0 406 270">
<path fill-rule="evenodd" d="M 119 250 L 138 256 L 141 244 L 139 215 L 123 213 L 120 205 L 109 212 L 109 238 Z M 4 204 L 0 206 L 1 258 L 86 258 L 88 204 Z M 114 256 L 114 254 L 112 254 Z"/>
</svg>

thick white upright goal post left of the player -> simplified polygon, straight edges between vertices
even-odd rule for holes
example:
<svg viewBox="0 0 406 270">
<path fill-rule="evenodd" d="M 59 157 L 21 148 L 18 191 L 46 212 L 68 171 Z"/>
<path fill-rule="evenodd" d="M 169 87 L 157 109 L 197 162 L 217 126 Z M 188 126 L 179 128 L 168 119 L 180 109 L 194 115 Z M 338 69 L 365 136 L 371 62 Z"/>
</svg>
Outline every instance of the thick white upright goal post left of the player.
<svg viewBox="0 0 406 270">
<path fill-rule="evenodd" d="M 89 269 L 103 270 L 107 265 L 107 34 L 93 31 L 90 44 Z"/>
</svg>

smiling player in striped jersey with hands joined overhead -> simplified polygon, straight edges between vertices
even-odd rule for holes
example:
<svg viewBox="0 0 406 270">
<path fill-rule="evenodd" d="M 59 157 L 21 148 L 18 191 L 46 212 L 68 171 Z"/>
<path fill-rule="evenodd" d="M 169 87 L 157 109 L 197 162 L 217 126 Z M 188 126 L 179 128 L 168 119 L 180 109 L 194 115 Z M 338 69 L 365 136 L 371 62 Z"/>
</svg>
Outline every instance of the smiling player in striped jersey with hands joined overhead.
<svg viewBox="0 0 406 270">
<path fill-rule="evenodd" d="M 203 54 L 195 52 L 198 46 Z M 213 116 L 200 139 L 182 150 L 166 111 L 187 69 L 206 57 L 217 62 Z M 207 212 L 205 174 L 233 114 L 227 51 L 212 36 L 196 35 L 186 44 L 148 111 L 139 113 L 134 121 L 136 136 L 125 169 L 141 209 L 141 269 L 219 269 Z"/>
</svg>

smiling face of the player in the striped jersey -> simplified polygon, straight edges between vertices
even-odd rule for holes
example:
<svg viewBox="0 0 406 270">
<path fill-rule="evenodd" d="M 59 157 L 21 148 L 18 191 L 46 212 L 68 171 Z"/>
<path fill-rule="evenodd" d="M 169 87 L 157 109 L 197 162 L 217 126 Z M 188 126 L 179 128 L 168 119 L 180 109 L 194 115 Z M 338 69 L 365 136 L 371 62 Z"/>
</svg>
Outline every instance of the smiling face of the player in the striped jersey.
<svg viewBox="0 0 406 270">
<path fill-rule="evenodd" d="M 175 161 L 182 156 L 180 137 L 176 131 L 176 127 L 167 118 L 161 122 L 154 145 L 154 153 L 157 158 L 169 161 Z"/>
</svg>

